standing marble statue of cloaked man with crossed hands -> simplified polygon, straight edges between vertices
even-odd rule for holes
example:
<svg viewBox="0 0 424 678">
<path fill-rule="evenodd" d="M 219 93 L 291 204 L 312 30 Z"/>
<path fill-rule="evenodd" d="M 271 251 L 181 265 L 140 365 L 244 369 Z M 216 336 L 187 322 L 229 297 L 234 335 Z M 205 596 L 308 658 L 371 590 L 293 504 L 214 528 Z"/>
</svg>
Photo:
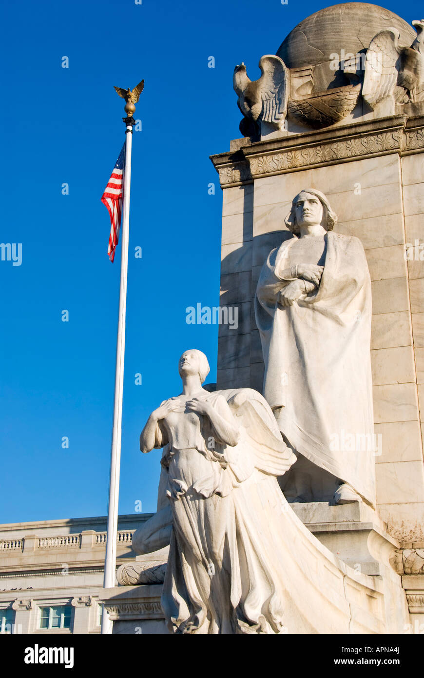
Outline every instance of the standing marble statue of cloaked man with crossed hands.
<svg viewBox="0 0 424 678">
<path fill-rule="evenodd" d="M 371 289 L 362 243 L 334 233 L 325 195 L 308 188 L 285 219 L 257 284 L 263 395 L 297 456 L 289 502 L 375 504 Z"/>
</svg>

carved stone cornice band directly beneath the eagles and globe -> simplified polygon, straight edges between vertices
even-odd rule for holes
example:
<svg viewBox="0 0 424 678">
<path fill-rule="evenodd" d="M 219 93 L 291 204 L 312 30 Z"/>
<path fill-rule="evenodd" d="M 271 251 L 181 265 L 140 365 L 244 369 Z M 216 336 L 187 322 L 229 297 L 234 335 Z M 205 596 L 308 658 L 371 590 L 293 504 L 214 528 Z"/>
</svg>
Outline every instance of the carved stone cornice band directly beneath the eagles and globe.
<svg viewBox="0 0 424 678">
<path fill-rule="evenodd" d="M 422 119 L 420 119 L 420 122 Z M 382 123 L 386 123 L 385 125 Z M 285 136 L 273 142 L 242 146 L 236 153 L 211 157 L 221 186 L 238 186 L 257 178 L 300 169 L 424 148 L 424 124 L 407 128 L 406 117 L 356 123 L 321 133 Z"/>
</svg>

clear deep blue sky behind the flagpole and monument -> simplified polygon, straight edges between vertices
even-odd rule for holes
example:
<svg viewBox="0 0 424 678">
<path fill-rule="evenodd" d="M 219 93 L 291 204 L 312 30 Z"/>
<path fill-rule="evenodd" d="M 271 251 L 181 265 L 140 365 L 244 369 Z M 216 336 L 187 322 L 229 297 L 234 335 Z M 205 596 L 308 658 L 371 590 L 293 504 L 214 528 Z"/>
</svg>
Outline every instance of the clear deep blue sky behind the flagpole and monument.
<svg viewBox="0 0 424 678">
<path fill-rule="evenodd" d="M 106 514 L 120 251 L 110 264 L 100 197 L 125 136 L 112 85 L 146 80 L 133 134 L 122 514 L 140 500 L 156 508 L 160 453 L 142 455 L 138 437 L 179 393 L 179 355 L 204 351 L 216 378 L 217 325 L 188 325 L 186 307 L 219 303 L 222 196 L 209 155 L 240 136 L 234 66 L 259 77 L 260 56 L 328 5 L 3 4 L 0 239 L 22 243 L 22 264 L 0 262 L 1 523 Z M 385 7 L 407 22 L 423 14 L 417 2 Z"/>
</svg>

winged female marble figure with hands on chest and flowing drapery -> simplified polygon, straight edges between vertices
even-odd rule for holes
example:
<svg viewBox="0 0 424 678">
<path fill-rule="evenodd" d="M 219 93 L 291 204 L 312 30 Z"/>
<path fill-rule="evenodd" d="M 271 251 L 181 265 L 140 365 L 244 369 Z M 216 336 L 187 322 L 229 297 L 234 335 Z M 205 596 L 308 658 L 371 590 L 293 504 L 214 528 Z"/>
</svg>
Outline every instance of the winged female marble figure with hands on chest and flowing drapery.
<svg viewBox="0 0 424 678">
<path fill-rule="evenodd" d="M 135 532 L 133 549 L 170 543 L 161 597 L 169 631 L 349 633 L 343 580 L 362 575 L 284 499 L 277 477 L 295 456 L 266 400 L 251 388 L 210 393 L 208 372 L 203 353 L 183 353 L 182 393 L 163 401 L 140 435 L 142 452 L 164 446 L 161 510 Z"/>
</svg>

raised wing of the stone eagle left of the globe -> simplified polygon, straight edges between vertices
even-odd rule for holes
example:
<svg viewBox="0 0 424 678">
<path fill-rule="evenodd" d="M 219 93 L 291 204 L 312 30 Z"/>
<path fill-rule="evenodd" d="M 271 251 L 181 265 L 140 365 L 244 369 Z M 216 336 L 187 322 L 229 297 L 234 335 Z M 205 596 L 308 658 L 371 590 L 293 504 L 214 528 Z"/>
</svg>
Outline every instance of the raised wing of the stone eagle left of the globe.
<svg viewBox="0 0 424 678">
<path fill-rule="evenodd" d="M 289 71 L 279 56 L 266 54 L 259 61 L 262 99 L 261 119 L 267 123 L 284 121 L 289 99 Z"/>
</svg>

